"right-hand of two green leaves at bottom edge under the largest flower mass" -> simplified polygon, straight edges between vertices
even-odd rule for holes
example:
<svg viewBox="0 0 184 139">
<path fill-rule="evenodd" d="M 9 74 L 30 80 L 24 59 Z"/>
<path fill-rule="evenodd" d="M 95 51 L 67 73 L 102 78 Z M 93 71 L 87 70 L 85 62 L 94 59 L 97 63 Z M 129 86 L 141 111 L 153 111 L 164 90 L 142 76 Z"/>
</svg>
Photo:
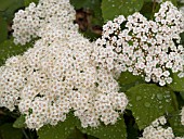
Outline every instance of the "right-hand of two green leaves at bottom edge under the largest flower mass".
<svg viewBox="0 0 184 139">
<path fill-rule="evenodd" d="M 80 126 L 80 122 L 78 123 L 78 128 L 88 135 L 94 136 L 100 139 L 127 139 L 127 130 L 123 117 L 119 119 L 115 125 L 100 125 L 96 128 L 87 127 L 82 128 Z"/>
</svg>

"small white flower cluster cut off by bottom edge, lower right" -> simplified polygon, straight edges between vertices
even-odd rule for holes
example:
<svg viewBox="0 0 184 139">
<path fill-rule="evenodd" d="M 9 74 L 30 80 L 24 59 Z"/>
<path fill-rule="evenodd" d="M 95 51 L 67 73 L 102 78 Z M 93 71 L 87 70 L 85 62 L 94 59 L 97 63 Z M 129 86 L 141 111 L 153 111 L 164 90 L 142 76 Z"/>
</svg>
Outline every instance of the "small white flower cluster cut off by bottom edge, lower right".
<svg viewBox="0 0 184 139">
<path fill-rule="evenodd" d="M 171 127 L 163 127 L 166 123 L 167 119 L 165 116 L 157 118 L 150 126 L 144 129 L 143 137 L 140 139 L 184 139 L 182 137 L 174 137 Z"/>
</svg>

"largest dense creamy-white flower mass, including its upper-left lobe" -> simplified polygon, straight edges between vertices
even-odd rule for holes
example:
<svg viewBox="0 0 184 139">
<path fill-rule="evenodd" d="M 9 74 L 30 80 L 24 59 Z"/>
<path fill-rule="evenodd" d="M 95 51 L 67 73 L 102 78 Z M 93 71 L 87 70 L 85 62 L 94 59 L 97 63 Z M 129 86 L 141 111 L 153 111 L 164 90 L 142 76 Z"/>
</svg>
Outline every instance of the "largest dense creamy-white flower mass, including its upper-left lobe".
<svg viewBox="0 0 184 139">
<path fill-rule="evenodd" d="M 34 48 L 0 67 L 0 106 L 16 106 L 28 128 L 64 122 L 73 111 L 82 127 L 115 124 L 128 104 L 118 83 L 100 67 L 90 42 L 73 24 L 69 0 L 40 0 L 14 18 L 15 42 Z"/>
</svg>

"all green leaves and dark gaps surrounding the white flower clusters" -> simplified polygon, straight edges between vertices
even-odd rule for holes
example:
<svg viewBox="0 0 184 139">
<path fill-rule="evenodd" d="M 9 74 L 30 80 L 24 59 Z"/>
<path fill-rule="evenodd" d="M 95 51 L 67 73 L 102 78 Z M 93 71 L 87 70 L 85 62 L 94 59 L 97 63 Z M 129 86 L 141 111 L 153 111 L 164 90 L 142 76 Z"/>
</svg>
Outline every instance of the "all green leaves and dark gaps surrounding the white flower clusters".
<svg viewBox="0 0 184 139">
<path fill-rule="evenodd" d="M 176 7 L 180 1 L 171 0 Z M 23 54 L 32 42 L 25 46 L 14 45 L 12 38 L 12 20 L 14 13 L 38 0 L 0 0 L 0 66 L 12 55 Z M 90 10 L 91 24 L 103 26 L 108 20 L 119 14 L 128 16 L 141 12 L 153 18 L 159 3 L 153 0 L 70 0 L 76 10 Z M 100 37 L 91 30 L 82 31 L 89 39 Z M 184 34 L 181 35 L 184 43 Z M 184 105 L 184 78 L 172 75 L 173 83 L 166 87 L 146 84 L 141 76 L 126 72 L 118 79 L 120 91 L 126 92 L 130 103 L 127 111 L 115 125 L 101 125 L 97 128 L 82 128 L 79 119 L 68 114 L 67 119 L 56 126 L 45 125 L 38 131 L 26 129 L 25 117 L 18 112 L 0 110 L 0 139 L 135 139 L 142 129 L 155 118 L 166 115 L 176 136 L 184 136 L 184 126 L 180 123 L 180 110 Z"/>
</svg>

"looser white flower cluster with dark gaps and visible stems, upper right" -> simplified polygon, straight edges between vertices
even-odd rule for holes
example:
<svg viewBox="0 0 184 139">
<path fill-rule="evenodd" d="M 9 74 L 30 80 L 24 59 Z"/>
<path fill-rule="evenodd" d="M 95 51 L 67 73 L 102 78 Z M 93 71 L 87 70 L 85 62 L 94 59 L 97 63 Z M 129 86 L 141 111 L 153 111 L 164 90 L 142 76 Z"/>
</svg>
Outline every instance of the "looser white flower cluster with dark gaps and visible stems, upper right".
<svg viewBox="0 0 184 139">
<path fill-rule="evenodd" d="M 165 86 L 172 83 L 170 71 L 184 76 L 183 31 L 183 14 L 169 1 L 160 5 L 155 21 L 137 12 L 127 18 L 120 15 L 103 26 L 103 36 L 96 40 L 96 59 L 108 71 L 129 71 Z"/>
</svg>

